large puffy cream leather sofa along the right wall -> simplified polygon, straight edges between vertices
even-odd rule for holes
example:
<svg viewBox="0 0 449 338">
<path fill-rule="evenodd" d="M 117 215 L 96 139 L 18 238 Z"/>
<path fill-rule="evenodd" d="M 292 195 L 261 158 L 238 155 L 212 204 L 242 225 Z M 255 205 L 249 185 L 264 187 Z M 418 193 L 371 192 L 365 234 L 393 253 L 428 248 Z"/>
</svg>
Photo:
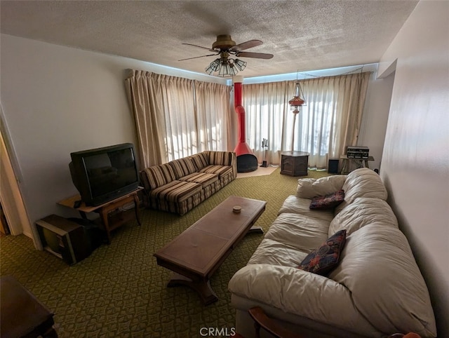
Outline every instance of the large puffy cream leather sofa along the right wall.
<svg viewBox="0 0 449 338">
<path fill-rule="evenodd" d="M 339 189 L 340 205 L 309 209 L 311 198 Z M 286 199 L 248 264 L 229 281 L 236 332 L 253 337 L 248 309 L 260 306 L 305 337 L 436 337 L 427 286 L 386 199 L 382 180 L 368 168 L 298 180 L 296 195 Z M 342 229 L 346 242 L 330 273 L 298 269 L 309 252 Z"/>
</svg>

